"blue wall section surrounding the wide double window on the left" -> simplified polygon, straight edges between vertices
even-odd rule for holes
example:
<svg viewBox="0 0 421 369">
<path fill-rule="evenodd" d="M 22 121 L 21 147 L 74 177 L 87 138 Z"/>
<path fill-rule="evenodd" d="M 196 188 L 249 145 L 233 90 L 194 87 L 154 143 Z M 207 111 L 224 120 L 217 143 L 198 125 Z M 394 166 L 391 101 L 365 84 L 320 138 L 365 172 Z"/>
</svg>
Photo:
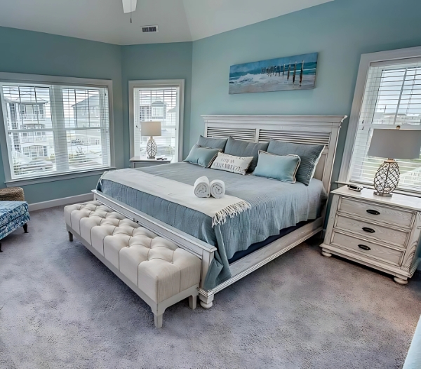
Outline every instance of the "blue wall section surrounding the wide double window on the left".
<svg viewBox="0 0 421 369">
<path fill-rule="evenodd" d="M 112 79 L 116 166 L 123 166 L 121 46 L 0 27 L 0 72 Z M 0 187 L 4 187 L 0 153 Z M 98 176 L 25 186 L 29 203 L 87 194 Z"/>
</svg>

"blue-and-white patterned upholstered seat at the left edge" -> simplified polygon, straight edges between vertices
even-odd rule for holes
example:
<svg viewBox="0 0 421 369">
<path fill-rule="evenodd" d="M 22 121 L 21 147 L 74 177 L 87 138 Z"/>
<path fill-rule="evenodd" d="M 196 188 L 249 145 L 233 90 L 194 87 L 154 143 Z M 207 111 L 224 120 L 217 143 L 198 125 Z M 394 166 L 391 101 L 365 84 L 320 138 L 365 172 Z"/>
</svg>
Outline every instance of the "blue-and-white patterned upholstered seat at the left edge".
<svg viewBox="0 0 421 369">
<path fill-rule="evenodd" d="M 23 227 L 27 233 L 28 220 L 29 211 L 26 201 L 0 201 L 0 240 L 20 227 Z"/>
</svg>

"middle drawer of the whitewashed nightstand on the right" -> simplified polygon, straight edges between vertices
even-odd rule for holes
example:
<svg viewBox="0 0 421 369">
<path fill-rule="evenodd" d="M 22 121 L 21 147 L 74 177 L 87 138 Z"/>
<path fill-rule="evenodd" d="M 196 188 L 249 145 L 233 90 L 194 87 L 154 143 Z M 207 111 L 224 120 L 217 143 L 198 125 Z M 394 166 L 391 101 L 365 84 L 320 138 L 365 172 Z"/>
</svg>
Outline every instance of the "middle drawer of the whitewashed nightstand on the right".
<svg viewBox="0 0 421 369">
<path fill-rule="evenodd" d="M 401 247 L 406 247 L 409 236 L 409 232 L 382 227 L 364 220 L 356 220 L 342 215 L 336 215 L 334 227 L 355 232 L 361 234 L 361 236 L 373 237 L 380 241 L 395 243 Z"/>
</svg>

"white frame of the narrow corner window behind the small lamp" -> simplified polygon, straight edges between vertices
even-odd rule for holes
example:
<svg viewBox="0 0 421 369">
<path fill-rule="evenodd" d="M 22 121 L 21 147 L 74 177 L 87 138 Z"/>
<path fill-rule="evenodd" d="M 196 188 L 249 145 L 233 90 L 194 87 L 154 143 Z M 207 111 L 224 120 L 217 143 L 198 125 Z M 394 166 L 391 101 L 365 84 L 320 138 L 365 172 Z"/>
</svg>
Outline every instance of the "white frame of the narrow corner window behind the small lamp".
<svg viewBox="0 0 421 369">
<path fill-rule="evenodd" d="M 130 128 L 130 157 L 135 156 L 135 119 L 134 119 L 134 89 L 135 88 L 180 88 L 180 109 L 178 109 L 178 152 L 175 161 L 182 161 L 183 147 L 183 126 L 184 126 L 184 101 L 185 101 L 185 80 L 184 79 L 148 79 L 128 81 L 128 114 Z M 152 109 L 151 109 L 152 110 Z M 152 114 L 152 112 L 151 112 Z M 151 115 L 152 116 L 152 115 Z"/>
</svg>

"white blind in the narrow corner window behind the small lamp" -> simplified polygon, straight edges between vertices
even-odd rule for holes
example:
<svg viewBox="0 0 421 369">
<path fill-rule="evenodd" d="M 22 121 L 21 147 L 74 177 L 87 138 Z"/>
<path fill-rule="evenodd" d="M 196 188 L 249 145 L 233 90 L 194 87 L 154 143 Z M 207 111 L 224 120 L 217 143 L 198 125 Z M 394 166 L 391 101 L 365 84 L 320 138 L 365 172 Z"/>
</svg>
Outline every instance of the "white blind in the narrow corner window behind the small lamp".
<svg viewBox="0 0 421 369">
<path fill-rule="evenodd" d="M 180 109 L 179 87 L 141 88 L 133 90 L 134 149 L 135 156 L 146 158 L 149 137 L 142 136 L 141 121 L 161 121 L 162 135 L 154 137 L 158 147 L 157 157 L 178 160 L 178 129 Z"/>
</svg>

